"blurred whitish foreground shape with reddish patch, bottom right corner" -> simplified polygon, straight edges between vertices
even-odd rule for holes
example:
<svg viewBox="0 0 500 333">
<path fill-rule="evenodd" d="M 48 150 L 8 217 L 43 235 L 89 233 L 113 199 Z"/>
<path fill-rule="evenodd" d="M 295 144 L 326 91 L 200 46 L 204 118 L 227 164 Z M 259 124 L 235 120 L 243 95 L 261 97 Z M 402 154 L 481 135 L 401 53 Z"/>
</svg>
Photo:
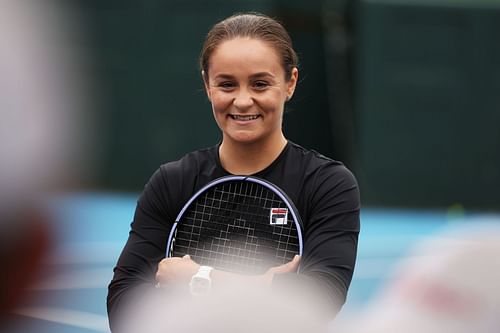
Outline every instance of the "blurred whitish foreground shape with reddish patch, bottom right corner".
<svg viewBox="0 0 500 333">
<path fill-rule="evenodd" d="M 500 332 L 500 229 L 474 223 L 424 241 L 349 324 L 341 331 Z"/>
</svg>

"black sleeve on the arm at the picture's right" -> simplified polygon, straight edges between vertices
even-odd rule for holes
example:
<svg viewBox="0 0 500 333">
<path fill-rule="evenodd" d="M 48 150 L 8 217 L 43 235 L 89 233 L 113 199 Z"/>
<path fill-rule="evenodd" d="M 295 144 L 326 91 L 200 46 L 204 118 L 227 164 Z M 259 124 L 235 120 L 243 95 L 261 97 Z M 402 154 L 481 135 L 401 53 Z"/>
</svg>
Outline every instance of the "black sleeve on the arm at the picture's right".
<svg viewBox="0 0 500 333">
<path fill-rule="evenodd" d="M 345 303 L 356 261 L 360 198 L 344 166 L 325 165 L 307 185 L 310 215 L 304 222 L 300 274 L 276 275 L 273 286 L 302 288 L 334 316 Z"/>
</svg>

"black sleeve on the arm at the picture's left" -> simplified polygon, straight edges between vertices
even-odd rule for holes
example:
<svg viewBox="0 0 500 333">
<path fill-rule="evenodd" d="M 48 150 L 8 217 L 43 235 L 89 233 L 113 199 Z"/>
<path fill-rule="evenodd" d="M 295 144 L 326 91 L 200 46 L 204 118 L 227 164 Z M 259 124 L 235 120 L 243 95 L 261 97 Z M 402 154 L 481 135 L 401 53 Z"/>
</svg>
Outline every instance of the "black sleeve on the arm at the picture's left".
<svg viewBox="0 0 500 333">
<path fill-rule="evenodd" d="M 131 224 L 127 243 L 114 268 L 108 287 L 107 308 L 112 331 L 129 302 L 155 284 L 158 263 L 165 257 L 166 240 L 175 219 L 166 200 L 168 186 L 160 168 L 141 194 Z M 175 208 L 174 208 L 175 209 Z"/>
</svg>

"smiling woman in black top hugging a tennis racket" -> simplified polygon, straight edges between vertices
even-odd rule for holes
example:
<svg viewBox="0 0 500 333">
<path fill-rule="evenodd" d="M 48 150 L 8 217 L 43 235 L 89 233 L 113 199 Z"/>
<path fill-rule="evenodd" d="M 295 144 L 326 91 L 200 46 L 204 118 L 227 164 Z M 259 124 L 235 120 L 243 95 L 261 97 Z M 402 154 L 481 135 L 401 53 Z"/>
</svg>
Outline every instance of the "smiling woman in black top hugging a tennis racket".
<svg viewBox="0 0 500 333">
<path fill-rule="evenodd" d="M 359 192 L 340 162 L 288 141 L 282 131 L 285 103 L 298 80 L 290 37 L 275 20 L 240 14 L 208 33 L 200 67 L 219 145 L 162 165 L 142 193 L 128 242 L 109 286 L 108 313 L 156 283 L 187 288 L 199 265 L 188 256 L 164 258 L 168 233 L 184 203 L 208 182 L 230 174 L 253 175 L 280 187 L 304 224 L 304 253 L 258 277 L 213 270 L 214 286 L 244 280 L 260 286 L 311 286 L 335 314 L 344 303 L 356 258 Z"/>
</svg>

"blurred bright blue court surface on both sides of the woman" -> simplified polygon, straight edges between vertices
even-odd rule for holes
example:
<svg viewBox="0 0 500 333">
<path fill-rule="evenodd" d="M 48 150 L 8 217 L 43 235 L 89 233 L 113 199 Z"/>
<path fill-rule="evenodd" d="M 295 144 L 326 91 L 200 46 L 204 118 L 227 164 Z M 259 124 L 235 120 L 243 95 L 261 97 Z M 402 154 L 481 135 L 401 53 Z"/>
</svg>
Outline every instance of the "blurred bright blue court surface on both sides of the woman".
<svg viewBox="0 0 500 333">
<path fill-rule="evenodd" d="M 136 194 L 67 194 L 50 200 L 56 241 L 47 270 L 1 331 L 109 332 L 107 285 L 128 236 Z M 500 225 L 500 214 L 445 210 L 362 210 L 358 262 L 343 313 L 377 292 L 397 263 L 426 237 L 460 225 Z"/>
</svg>

